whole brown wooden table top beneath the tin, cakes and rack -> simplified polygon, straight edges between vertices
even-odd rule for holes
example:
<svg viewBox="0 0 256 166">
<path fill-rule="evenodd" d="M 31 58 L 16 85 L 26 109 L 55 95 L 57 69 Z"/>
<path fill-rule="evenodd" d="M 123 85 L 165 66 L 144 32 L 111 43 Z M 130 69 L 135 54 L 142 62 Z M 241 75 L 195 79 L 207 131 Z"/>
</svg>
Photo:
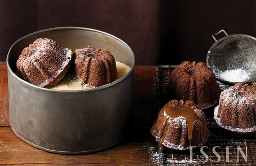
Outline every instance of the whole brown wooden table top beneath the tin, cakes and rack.
<svg viewBox="0 0 256 166">
<path fill-rule="evenodd" d="M 167 70 L 161 70 L 162 68 Z M 175 66 L 136 66 L 134 70 L 134 103 L 133 127 L 128 135 L 116 146 L 104 151 L 87 155 L 60 155 L 39 150 L 18 138 L 9 123 L 8 80 L 6 62 L 0 62 L 0 165 L 24 164 L 72 164 L 72 165 L 228 165 L 228 166 L 256 166 L 256 135 L 235 136 L 223 131 L 213 120 L 213 108 L 206 111 L 208 129 L 211 132 L 205 144 L 205 152 L 209 155 L 207 162 L 199 150 L 195 150 L 193 161 L 189 160 L 187 151 L 159 151 L 158 143 L 151 136 L 149 129 L 160 110 L 166 103 L 165 87 L 166 75 Z M 161 75 L 162 77 L 159 77 Z M 169 79 L 168 79 L 169 80 Z M 224 86 L 225 87 L 225 86 Z M 162 93 L 163 92 L 163 93 Z M 159 94 L 161 94 L 159 96 Z M 161 101 L 161 105 L 159 104 Z M 217 156 L 213 155 L 213 148 L 217 146 Z M 229 152 L 226 152 L 229 147 Z M 246 161 L 238 148 L 246 154 Z M 229 153 L 229 160 L 226 154 Z M 238 161 L 240 160 L 240 161 Z"/>
</svg>

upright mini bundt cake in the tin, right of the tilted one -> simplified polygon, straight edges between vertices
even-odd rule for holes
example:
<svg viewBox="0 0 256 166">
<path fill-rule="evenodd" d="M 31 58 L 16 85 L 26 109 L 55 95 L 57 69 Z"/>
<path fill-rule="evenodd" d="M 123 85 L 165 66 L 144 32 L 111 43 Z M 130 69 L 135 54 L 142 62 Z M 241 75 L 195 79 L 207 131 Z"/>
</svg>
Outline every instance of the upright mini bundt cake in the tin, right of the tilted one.
<svg viewBox="0 0 256 166">
<path fill-rule="evenodd" d="M 72 72 L 76 79 L 89 87 L 103 86 L 117 79 L 114 56 L 107 50 L 88 48 L 76 49 Z"/>
</svg>

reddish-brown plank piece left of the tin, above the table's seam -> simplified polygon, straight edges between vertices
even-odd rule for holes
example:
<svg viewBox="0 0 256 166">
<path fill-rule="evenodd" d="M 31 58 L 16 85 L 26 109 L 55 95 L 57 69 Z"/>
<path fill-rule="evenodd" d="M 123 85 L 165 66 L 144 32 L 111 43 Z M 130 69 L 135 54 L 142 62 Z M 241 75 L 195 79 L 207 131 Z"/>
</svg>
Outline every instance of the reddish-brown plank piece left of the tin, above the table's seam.
<svg viewBox="0 0 256 166">
<path fill-rule="evenodd" d="M 6 62 L 0 62 L 0 126 L 10 126 Z"/>
</svg>

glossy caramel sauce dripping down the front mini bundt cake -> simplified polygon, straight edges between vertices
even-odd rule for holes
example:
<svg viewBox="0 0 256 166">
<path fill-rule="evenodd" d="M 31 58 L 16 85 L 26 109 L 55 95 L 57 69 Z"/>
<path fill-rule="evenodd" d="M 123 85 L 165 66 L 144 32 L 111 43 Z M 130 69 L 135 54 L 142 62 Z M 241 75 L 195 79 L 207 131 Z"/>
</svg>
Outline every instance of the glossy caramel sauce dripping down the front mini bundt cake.
<svg viewBox="0 0 256 166">
<path fill-rule="evenodd" d="M 170 122 L 172 119 L 176 118 L 176 117 L 181 117 L 182 119 L 187 121 L 187 138 L 189 140 L 189 149 L 191 147 L 191 142 L 192 142 L 192 131 L 194 128 L 194 124 L 196 122 L 198 122 L 200 124 L 200 128 L 201 128 L 201 142 L 204 142 L 204 138 L 203 138 L 203 125 L 201 120 L 199 119 L 199 117 L 197 116 L 197 114 L 189 107 L 180 107 L 180 108 L 174 108 L 172 106 L 164 106 L 158 113 L 158 115 L 163 112 L 163 118 L 162 121 L 160 122 L 159 126 L 158 126 L 158 131 L 161 130 L 162 126 L 164 125 L 165 121 L 167 121 L 167 124 L 165 126 L 165 130 L 163 133 L 163 136 L 161 137 L 160 140 L 160 150 L 164 150 L 163 147 L 163 142 L 165 139 L 165 135 L 166 132 L 168 130 L 168 127 L 170 125 Z"/>
</svg>

